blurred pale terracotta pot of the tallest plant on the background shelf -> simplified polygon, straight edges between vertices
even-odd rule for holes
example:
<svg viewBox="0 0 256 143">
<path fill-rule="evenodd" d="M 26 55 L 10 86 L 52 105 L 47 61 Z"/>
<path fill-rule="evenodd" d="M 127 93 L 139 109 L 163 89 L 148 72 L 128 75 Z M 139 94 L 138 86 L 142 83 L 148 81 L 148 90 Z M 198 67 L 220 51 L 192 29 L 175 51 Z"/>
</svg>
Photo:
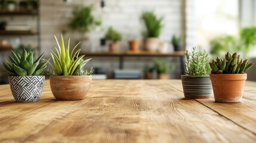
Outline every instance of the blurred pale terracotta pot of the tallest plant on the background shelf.
<svg viewBox="0 0 256 143">
<path fill-rule="evenodd" d="M 159 48 L 158 38 L 146 38 L 144 39 L 144 50 L 146 51 L 158 51 Z"/>
</svg>

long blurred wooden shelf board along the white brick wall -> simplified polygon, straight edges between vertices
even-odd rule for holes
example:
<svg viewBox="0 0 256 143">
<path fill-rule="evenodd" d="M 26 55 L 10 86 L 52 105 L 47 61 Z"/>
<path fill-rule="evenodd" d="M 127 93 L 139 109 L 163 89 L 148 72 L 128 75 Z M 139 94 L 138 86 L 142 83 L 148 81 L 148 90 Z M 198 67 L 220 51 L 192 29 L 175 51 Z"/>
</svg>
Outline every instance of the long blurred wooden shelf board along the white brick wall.
<svg viewBox="0 0 256 143">
<path fill-rule="evenodd" d="M 127 51 L 127 52 L 80 52 L 80 55 L 88 56 L 165 56 L 165 57 L 183 57 L 185 55 L 184 51 L 175 51 L 175 52 L 149 52 L 149 51 Z"/>
</svg>

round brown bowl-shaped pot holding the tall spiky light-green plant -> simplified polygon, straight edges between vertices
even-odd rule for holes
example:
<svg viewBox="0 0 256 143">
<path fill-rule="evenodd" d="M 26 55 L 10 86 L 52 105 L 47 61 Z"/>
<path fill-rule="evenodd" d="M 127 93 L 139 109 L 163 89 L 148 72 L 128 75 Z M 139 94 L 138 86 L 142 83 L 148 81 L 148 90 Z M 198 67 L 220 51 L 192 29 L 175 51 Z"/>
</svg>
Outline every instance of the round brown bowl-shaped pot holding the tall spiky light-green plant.
<svg viewBox="0 0 256 143">
<path fill-rule="evenodd" d="M 51 92 L 57 100 L 83 100 L 91 85 L 91 76 L 50 76 Z"/>
</svg>

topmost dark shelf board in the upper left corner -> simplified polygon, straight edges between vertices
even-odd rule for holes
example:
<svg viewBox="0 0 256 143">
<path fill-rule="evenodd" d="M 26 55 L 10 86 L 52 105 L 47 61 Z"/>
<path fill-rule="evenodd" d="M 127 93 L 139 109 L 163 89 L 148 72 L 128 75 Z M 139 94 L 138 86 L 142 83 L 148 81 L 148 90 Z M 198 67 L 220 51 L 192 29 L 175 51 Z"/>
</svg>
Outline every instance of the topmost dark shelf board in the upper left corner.
<svg viewBox="0 0 256 143">
<path fill-rule="evenodd" d="M 36 11 L 27 11 L 27 10 L 0 10 L 0 15 L 37 15 Z"/>
</svg>

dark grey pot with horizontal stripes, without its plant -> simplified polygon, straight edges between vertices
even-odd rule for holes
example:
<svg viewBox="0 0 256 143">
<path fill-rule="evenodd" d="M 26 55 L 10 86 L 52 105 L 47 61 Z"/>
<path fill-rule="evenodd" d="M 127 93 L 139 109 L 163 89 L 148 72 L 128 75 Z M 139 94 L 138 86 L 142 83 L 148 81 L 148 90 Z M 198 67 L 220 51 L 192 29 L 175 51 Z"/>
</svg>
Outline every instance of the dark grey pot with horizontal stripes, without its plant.
<svg viewBox="0 0 256 143">
<path fill-rule="evenodd" d="M 209 75 L 181 75 L 183 92 L 186 99 L 208 99 L 212 94 L 212 84 Z"/>
</svg>

